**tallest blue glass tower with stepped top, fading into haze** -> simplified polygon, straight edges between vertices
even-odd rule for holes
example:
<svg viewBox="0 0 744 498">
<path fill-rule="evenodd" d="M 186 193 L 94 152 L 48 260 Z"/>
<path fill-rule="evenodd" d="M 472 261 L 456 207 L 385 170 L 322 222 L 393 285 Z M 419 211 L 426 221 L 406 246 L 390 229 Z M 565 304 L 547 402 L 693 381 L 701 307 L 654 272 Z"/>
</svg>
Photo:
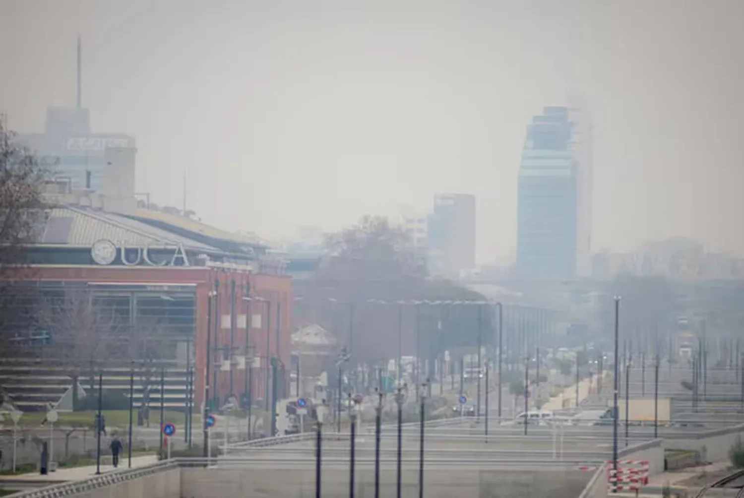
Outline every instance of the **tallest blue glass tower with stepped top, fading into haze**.
<svg viewBox="0 0 744 498">
<path fill-rule="evenodd" d="M 577 109 L 547 106 L 533 117 L 518 184 L 519 274 L 586 275 L 591 269 L 591 127 Z"/>
</svg>

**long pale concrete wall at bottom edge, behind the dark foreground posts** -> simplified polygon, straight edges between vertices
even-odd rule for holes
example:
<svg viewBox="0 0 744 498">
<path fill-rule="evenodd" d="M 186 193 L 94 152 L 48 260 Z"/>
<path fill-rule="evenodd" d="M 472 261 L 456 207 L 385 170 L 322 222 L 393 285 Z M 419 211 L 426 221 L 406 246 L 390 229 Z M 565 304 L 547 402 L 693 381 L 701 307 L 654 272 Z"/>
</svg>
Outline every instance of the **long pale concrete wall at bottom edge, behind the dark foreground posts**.
<svg viewBox="0 0 744 498">
<path fill-rule="evenodd" d="M 576 470 L 429 470 L 425 477 L 428 498 L 575 498 L 591 478 Z M 381 472 L 380 494 L 394 496 L 396 470 Z M 181 476 L 183 498 L 250 496 L 251 498 L 299 498 L 315 496 L 314 470 L 185 469 Z M 403 470 L 403 497 L 418 497 L 418 472 Z M 324 469 L 324 498 L 348 497 L 349 476 L 344 469 Z M 369 468 L 355 476 L 356 496 L 374 496 L 374 474 Z"/>
</svg>

